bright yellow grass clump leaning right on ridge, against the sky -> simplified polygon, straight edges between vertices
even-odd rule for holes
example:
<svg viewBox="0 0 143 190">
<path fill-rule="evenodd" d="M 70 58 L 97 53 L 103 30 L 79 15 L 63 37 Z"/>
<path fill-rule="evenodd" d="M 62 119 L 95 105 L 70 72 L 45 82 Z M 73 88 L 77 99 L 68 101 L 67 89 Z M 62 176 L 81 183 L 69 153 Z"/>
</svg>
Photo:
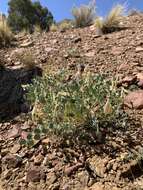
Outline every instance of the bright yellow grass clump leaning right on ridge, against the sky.
<svg viewBox="0 0 143 190">
<path fill-rule="evenodd" d="M 107 34 L 119 30 L 120 20 L 125 12 L 125 6 L 116 5 L 111 9 L 105 19 L 97 17 L 95 20 L 95 26 L 100 34 Z"/>
</svg>

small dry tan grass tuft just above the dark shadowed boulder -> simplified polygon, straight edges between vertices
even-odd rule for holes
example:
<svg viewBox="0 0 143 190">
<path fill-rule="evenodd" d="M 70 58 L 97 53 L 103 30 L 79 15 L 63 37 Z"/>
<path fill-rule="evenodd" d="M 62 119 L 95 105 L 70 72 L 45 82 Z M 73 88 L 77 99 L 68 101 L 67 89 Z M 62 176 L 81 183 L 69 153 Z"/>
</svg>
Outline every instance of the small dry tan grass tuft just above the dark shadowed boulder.
<svg viewBox="0 0 143 190">
<path fill-rule="evenodd" d="M 18 54 L 17 58 L 27 69 L 35 68 L 35 58 L 30 50 L 25 50 L 21 54 Z"/>
</svg>

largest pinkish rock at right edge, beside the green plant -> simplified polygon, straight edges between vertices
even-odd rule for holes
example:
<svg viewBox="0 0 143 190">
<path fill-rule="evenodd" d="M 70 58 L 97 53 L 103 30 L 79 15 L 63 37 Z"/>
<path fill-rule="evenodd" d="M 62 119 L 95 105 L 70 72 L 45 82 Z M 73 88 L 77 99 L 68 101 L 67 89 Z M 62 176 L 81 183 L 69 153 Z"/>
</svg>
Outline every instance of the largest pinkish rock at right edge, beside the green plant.
<svg viewBox="0 0 143 190">
<path fill-rule="evenodd" d="M 130 92 L 124 99 L 124 105 L 129 108 L 143 108 L 143 90 Z"/>
</svg>

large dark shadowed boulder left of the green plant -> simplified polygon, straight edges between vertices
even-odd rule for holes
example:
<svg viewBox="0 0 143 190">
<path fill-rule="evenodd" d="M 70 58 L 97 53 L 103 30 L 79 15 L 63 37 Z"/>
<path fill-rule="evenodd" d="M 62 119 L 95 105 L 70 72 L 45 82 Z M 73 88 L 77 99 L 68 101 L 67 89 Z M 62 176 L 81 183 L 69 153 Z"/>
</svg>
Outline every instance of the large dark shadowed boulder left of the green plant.
<svg viewBox="0 0 143 190">
<path fill-rule="evenodd" d="M 23 89 L 12 70 L 0 66 L 0 120 L 21 112 Z"/>
</svg>

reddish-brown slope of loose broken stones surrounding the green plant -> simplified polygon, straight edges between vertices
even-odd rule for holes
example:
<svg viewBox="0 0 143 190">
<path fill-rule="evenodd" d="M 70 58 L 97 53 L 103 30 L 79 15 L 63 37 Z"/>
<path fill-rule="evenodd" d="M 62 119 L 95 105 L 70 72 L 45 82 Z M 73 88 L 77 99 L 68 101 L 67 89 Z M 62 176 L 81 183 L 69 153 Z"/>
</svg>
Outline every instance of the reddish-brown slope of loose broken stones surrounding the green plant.
<svg viewBox="0 0 143 190">
<path fill-rule="evenodd" d="M 123 30 L 103 36 L 96 35 L 94 26 L 66 32 L 21 35 L 17 36 L 15 46 L 0 50 L 1 60 L 20 84 L 25 78 L 30 80 L 34 76 L 29 70 L 23 71 L 18 59 L 17 55 L 22 55 L 25 50 L 34 55 L 36 65 L 43 70 L 64 67 L 73 74 L 77 64 L 84 64 L 92 72 L 106 72 L 111 77 L 118 77 L 119 88 L 123 86 L 126 89 L 124 105 L 131 120 L 122 128 L 107 129 L 104 142 L 73 139 L 71 146 L 68 141 L 59 142 L 55 137 L 46 137 L 31 149 L 19 143 L 20 137 L 26 137 L 35 127 L 27 113 L 17 114 L 13 119 L 0 123 L 3 190 L 143 189 L 142 23 L 143 14 L 133 14 L 123 19 Z M 18 84 L 14 81 L 12 89 Z M 1 92 L 5 89 L 0 91 L 0 98 L 4 96 Z M 5 107 L 6 98 L 2 102 Z M 18 102 L 18 105 L 20 111 L 26 112 L 23 103 Z"/>
</svg>

